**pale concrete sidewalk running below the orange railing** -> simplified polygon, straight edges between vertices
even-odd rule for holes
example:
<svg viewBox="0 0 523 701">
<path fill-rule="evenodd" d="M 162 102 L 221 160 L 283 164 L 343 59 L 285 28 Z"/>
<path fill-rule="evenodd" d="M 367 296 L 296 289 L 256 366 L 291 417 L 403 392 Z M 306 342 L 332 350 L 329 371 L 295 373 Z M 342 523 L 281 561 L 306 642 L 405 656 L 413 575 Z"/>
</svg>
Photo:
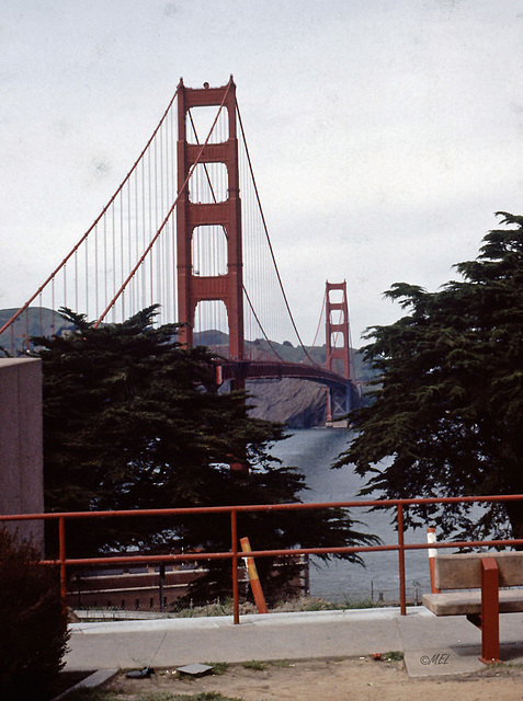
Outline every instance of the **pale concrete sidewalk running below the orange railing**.
<svg viewBox="0 0 523 701">
<path fill-rule="evenodd" d="M 484 668 L 480 631 L 423 607 L 72 623 L 67 670 L 405 653 L 410 677 Z M 501 657 L 523 664 L 523 613 L 500 616 Z"/>
</svg>

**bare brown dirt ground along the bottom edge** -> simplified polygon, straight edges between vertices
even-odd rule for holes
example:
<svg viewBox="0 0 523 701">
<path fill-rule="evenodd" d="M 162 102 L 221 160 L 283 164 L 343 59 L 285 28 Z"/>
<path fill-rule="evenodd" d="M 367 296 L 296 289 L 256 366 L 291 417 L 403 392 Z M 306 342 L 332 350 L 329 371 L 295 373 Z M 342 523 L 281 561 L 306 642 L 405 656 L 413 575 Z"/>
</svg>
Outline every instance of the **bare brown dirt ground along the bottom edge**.
<svg viewBox="0 0 523 701">
<path fill-rule="evenodd" d="M 147 692 L 192 694 L 220 692 L 243 701 L 522 701 L 523 669 L 486 668 L 477 675 L 409 679 L 402 662 L 329 659 L 266 663 L 261 669 L 228 665 L 221 675 L 179 678 L 174 669 L 157 669 L 149 679 L 124 674 L 104 690 L 124 691 L 118 701 Z"/>
</svg>

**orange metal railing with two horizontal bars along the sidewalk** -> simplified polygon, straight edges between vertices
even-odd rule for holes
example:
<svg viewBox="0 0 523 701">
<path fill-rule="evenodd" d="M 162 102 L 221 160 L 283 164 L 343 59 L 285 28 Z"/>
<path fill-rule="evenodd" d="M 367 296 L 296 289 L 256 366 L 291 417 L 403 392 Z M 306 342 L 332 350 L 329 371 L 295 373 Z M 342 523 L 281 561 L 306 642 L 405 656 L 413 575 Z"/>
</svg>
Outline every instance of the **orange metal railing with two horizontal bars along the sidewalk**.
<svg viewBox="0 0 523 701">
<path fill-rule="evenodd" d="M 59 533 L 59 556 L 58 560 L 43 561 L 45 564 L 55 564 L 60 567 L 61 596 L 64 601 L 67 599 L 67 567 L 71 566 L 94 566 L 105 564 L 137 564 L 137 563 L 173 563 L 173 562 L 194 562 L 211 560 L 230 560 L 231 561 L 231 584 L 232 584 L 232 606 L 234 622 L 240 622 L 239 613 L 239 584 L 238 584 L 238 563 L 241 558 L 268 558 L 281 555 L 326 555 L 342 553 L 361 553 L 361 552 L 398 552 L 399 568 L 399 600 L 401 616 L 407 613 L 406 598 L 406 575 L 405 575 L 405 553 L 408 550 L 427 550 L 429 548 L 479 548 L 479 547 L 498 547 L 498 545 L 523 545 L 523 539 L 508 540 L 477 540 L 477 541 L 442 541 L 431 543 L 406 543 L 403 510 L 409 506 L 419 504 L 464 504 L 464 503 L 489 503 L 489 502 L 523 502 L 523 494 L 498 495 L 498 496 L 463 496 L 463 497 L 442 497 L 442 498 L 418 498 L 418 499 L 368 499 L 353 502 L 327 502 L 317 504 L 263 504 L 263 505 L 242 505 L 242 506 L 209 506 L 209 507 L 192 507 L 192 508 L 161 508 L 161 509 L 134 509 L 123 512 L 69 512 L 64 514 L 16 514 L 0 515 L 1 521 L 20 521 L 20 520 L 58 520 Z M 253 550 L 249 552 L 240 552 L 238 547 L 238 526 L 237 516 L 240 513 L 254 512 L 282 512 L 282 510 L 312 510 L 318 508 L 390 508 L 396 507 L 397 510 L 397 542 L 383 545 L 348 545 L 337 548 L 293 548 L 288 550 Z M 197 552 L 197 553 L 180 553 L 167 555 L 134 555 L 127 553 L 125 555 L 116 555 L 110 558 L 73 558 L 68 559 L 66 552 L 66 521 L 84 518 L 121 518 L 121 517 L 146 517 L 146 516 L 186 516 L 190 514 L 229 514 L 230 515 L 230 550 L 228 552 Z"/>
</svg>

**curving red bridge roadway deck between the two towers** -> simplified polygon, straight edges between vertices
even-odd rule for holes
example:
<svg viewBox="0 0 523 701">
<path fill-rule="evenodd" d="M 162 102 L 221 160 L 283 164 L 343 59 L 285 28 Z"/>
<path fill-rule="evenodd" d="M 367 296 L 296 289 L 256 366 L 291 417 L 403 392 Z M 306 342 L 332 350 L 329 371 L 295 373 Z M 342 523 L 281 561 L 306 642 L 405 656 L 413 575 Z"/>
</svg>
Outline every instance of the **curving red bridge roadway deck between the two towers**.
<svg viewBox="0 0 523 701">
<path fill-rule="evenodd" d="M 351 380 L 331 372 L 317 365 L 303 363 L 282 363 L 275 360 L 226 360 L 218 365 L 220 380 L 251 379 L 277 379 L 283 377 L 297 378 L 319 382 L 330 388 L 346 390 Z"/>
</svg>

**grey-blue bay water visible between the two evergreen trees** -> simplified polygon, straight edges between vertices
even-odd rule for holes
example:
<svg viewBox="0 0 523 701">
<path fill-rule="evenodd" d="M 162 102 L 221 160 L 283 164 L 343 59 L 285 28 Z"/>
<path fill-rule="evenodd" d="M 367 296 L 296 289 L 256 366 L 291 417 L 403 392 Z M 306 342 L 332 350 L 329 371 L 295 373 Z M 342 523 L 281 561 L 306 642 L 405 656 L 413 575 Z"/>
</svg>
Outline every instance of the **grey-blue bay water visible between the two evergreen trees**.
<svg viewBox="0 0 523 701">
<path fill-rule="evenodd" d="M 362 501 L 357 495 L 365 480 L 354 472 L 352 466 L 333 470 L 332 463 L 345 450 L 353 434 L 342 428 L 306 428 L 289 432 L 286 440 L 278 443 L 272 453 L 285 467 L 298 468 L 308 490 L 302 499 L 315 502 Z M 378 536 L 383 544 L 396 544 L 398 536 L 394 524 L 395 510 L 351 509 L 351 516 L 362 521 L 355 530 Z M 430 524 L 428 524 L 430 526 Z M 405 542 L 425 542 L 424 529 L 407 529 Z M 361 553 L 365 566 L 332 560 L 328 563 L 310 559 L 310 596 L 325 597 L 332 601 L 372 599 L 375 601 L 399 600 L 398 553 Z M 427 550 L 406 553 L 406 584 L 408 598 L 417 601 L 421 594 L 430 591 L 429 559 Z"/>
</svg>

